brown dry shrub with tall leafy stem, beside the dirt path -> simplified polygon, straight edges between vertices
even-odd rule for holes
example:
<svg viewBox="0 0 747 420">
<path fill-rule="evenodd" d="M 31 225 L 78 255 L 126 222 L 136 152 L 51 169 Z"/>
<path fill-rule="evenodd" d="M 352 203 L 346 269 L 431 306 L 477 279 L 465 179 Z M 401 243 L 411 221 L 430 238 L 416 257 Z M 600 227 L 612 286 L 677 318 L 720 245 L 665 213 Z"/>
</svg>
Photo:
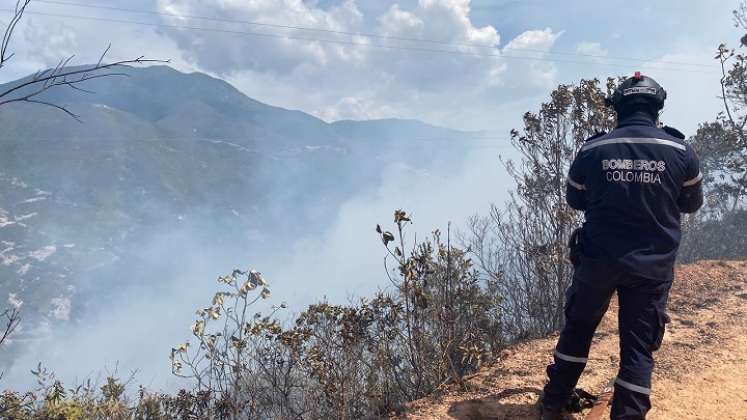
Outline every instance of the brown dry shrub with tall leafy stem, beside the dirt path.
<svg viewBox="0 0 747 420">
<path fill-rule="evenodd" d="M 395 304 L 402 309 L 398 346 L 407 354 L 412 382 L 406 388 L 416 394 L 438 388 L 444 382 L 463 385 L 465 373 L 474 371 L 485 357 L 502 344 L 494 284 L 482 282 L 466 252 L 446 240 L 440 231 L 417 243 L 404 254 L 404 231 L 410 222 L 405 212 L 395 212 L 397 239 L 380 232 L 389 256 L 397 261 L 399 277 Z M 377 230 L 381 230 L 377 227 Z M 391 249 L 390 243 L 397 243 Z"/>
</svg>

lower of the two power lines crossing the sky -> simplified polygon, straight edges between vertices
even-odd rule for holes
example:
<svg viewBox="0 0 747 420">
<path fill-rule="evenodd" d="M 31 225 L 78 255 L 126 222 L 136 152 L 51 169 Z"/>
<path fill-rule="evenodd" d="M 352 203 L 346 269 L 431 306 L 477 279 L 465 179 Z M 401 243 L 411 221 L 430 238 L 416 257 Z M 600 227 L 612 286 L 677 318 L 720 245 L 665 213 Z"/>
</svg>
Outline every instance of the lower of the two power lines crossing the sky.
<svg viewBox="0 0 747 420">
<path fill-rule="evenodd" d="M 12 9 L 0 9 L 0 12 L 15 13 L 15 11 Z M 478 53 L 478 52 L 473 52 L 473 51 L 442 50 L 442 49 L 434 49 L 434 48 L 370 44 L 370 43 L 365 43 L 365 42 L 355 42 L 355 41 L 347 41 L 347 40 L 322 39 L 322 38 L 303 37 L 303 36 L 295 36 L 295 35 L 271 34 L 271 33 L 265 33 L 265 32 L 236 31 L 236 30 L 220 29 L 220 28 L 204 28 L 204 27 L 198 27 L 198 26 L 168 25 L 168 24 L 162 24 L 162 23 L 138 22 L 138 21 L 132 21 L 132 20 L 126 20 L 126 19 L 113 19 L 113 18 L 104 18 L 104 17 L 95 17 L 95 16 L 80 16 L 80 15 L 68 15 L 68 14 L 45 13 L 45 12 L 34 12 L 34 11 L 26 11 L 24 13 L 31 14 L 31 15 L 37 15 L 37 16 L 46 16 L 46 17 L 58 17 L 58 18 L 66 18 L 66 19 L 82 19 L 82 20 L 99 21 L 99 22 L 123 23 L 123 24 L 130 24 L 130 25 L 149 26 L 149 27 L 157 27 L 157 28 L 176 29 L 176 30 L 186 29 L 186 30 L 193 30 L 193 31 L 216 32 L 216 33 L 225 33 L 225 34 L 233 34 L 233 35 L 248 35 L 248 36 L 277 38 L 277 39 L 292 39 L 292 40 L 300 40 L 300 41 L 308 41 L 308 42 L 321 42 L 321 43 L 338 44 L 338 45 L 381 48 L 381 49 L 387 49 L 387 50 L 453 54 L 453 55 L 475 56 L 475 57 L 495 57 L 495 58 L 506 58 L 506 59 L 513 59 L 513 60 L 543 61 L 543 62 L 553 62 L 553 63 L 586 64 L 586 65 L 591 64 L 591 65 L 600 65 L 600 66 L 625 68 L 625 69 L 629 69 L 632 66 L 632 65 L 631 66 L 623 65 L 620 63 L 600 63 L 600 62 L 593 62 L 593 61 L 558 60 L 555 58 L 551 59 L 551 58 L 546 58 L 546 57 L 529 57 L 529 56 L 507 55 L 507 54 L 488 54 L 488 53 Z M 653 68 L 656 70 L 665 70 L 665 71 L 672 71 L 672 72 L 701 73 L 701 74 L 710 73 L 710 72 L 706 72 L 702 70 L 694 70 L 694 69 L 675 69 L 675 68 L 668 68 L 668 67 L 653 67 Z"/>
</svg>

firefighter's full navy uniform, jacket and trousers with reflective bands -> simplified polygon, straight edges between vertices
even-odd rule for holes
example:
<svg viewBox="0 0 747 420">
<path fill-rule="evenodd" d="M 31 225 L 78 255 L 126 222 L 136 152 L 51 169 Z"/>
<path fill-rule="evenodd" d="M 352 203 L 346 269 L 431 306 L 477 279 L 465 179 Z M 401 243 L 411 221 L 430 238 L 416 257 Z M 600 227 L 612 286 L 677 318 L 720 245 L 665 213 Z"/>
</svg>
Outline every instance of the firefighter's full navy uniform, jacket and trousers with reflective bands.
<svg viewBox="0 0 747 420">
<path fill-rule="evenodd" d="M 683 138 L 636 114 L 609 134 L 587 140 L 571 165 L 567 200 L 585 212 L 586 222 L 580 261 L 566 292 L 565 327 L 548 367 L 546 406 L 569 398 L 616 291 L 620 371 L 612 418 L 643 419 L 650 409 L 652 352 L 669 320 L 680 213 L 703 203 L 698 157 Z"/>
</svg>

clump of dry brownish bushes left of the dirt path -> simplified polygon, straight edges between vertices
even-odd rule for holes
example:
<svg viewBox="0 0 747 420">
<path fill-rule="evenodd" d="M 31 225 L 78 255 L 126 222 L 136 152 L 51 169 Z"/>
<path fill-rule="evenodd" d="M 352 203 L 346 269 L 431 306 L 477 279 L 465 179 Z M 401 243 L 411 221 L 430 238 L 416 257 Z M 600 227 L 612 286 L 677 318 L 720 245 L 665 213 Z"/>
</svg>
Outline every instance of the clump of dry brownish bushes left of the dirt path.
<svg viewBox="0 0 747 420">
<path fill-rule="evenodd" d="M 376 418 L 449 384 L 463 385 L 503 341 L 498 300 L 463 250 L 436 231 L 403 250 L 377 231 L 397 264 L 392 287 L 356 304 L 310 305 L 290 325 L 249 315 L 269 295 L 256 272 L 219 278 L 228 291 L 198 311 L 197 343 L 172 350 L 174 373 L 211 396 L 220 418 Z M 261 292 L 257 295 L 257 291 Z M 216 327 L 217 326 L 217 327 Z"/>
</svg>

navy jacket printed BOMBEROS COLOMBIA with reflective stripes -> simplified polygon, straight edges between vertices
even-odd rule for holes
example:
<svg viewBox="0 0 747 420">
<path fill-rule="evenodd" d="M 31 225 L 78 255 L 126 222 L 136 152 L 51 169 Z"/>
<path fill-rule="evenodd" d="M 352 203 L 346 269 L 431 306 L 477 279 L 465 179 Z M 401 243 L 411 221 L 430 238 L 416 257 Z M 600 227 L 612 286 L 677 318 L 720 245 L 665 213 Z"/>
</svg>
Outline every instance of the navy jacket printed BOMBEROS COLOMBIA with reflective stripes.
<svg viewBox="0 0 747 420">
<path fill-rule="evenodd" d="M 646 114 L 588 139 L 571 165 L 566 195 L 585 212 L 583 255 L 642 277 L 671 279 L 680 213 L 703 204 L 702 178 L 684 135 L 657 127 Z"/>
</svg>

